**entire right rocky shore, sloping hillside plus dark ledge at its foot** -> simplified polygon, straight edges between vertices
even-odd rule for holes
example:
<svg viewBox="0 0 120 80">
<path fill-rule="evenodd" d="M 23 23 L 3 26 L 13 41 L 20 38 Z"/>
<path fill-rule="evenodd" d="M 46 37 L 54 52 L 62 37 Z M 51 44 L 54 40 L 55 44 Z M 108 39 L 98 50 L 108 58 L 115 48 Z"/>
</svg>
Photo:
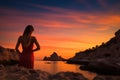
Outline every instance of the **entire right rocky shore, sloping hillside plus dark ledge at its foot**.
<svg viewBox="0 0 120 80">
<path fill-rule="evenodd" d="M 67 63 L 80 64 L 80 69 L 103 75 L 120 75 L 120 29 L 106 43 L 80 51 Z"/>
</svg>

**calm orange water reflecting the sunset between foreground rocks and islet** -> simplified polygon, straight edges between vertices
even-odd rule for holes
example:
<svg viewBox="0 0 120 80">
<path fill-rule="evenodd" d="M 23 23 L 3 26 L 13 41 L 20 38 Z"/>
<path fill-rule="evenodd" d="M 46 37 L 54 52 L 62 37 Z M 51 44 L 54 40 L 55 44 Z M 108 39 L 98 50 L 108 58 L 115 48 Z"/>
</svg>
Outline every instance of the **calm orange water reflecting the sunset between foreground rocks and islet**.
<svg viewBox="0 0 120 80">
<path fill-rule="evenodd" d="M 55 74 L 61 71 L 72 71 L 82 73 L 86 78 L 92 80 L 96 74 L 88 71 L 83 71 L 79 69 L 80 65 L 67 64 L 64 61 L 35 61 L 35 69 L 40 69 L 42 71 L 47 71 L 51 74 Z"/>
</svg>

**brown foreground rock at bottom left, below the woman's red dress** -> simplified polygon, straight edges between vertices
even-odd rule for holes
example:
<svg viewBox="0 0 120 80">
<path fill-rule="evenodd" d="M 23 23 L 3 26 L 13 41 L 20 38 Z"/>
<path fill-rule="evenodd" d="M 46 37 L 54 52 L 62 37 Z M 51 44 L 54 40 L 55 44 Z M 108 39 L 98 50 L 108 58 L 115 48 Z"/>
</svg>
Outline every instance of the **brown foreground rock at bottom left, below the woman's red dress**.
<svg viewBox="0 0 120 80">
<path fill-rule="evenodd" d="M 2 80 L 49 80 L 50 74 L 40 70 L 26 69 L 18 66 L 0 68 Z"/>
</svg>

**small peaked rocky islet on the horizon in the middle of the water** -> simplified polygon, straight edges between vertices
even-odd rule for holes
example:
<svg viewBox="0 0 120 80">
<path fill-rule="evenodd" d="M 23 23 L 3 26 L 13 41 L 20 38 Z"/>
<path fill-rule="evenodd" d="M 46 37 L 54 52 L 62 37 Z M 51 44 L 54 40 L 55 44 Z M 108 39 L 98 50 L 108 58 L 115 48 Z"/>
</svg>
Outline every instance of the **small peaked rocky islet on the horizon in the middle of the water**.
<svg viewBox="0 0 120 80">
<path fill-rule="evenodd" d="M 65 61 L 66 59 L 62 58 L 61 56 L 58 56 L 56 52 L 53 52 L 53 54 L 50 55 L 50 57 L 44 57 L 43 60 L 47 61 Z"/>
</svg>

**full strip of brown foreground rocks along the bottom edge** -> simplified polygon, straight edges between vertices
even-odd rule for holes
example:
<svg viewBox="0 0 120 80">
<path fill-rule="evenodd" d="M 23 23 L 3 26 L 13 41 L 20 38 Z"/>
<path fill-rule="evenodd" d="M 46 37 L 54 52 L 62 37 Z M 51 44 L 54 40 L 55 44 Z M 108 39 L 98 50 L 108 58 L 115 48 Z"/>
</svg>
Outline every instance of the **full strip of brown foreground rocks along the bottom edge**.
<svg viewBox="0 0 120 80">
<path fill-rule="evenodd" d="M 80 73 L 59 72 L 55 75 L 41 70 L 0 65 L 0 80 L 88 80 Z"/>
</svg>

